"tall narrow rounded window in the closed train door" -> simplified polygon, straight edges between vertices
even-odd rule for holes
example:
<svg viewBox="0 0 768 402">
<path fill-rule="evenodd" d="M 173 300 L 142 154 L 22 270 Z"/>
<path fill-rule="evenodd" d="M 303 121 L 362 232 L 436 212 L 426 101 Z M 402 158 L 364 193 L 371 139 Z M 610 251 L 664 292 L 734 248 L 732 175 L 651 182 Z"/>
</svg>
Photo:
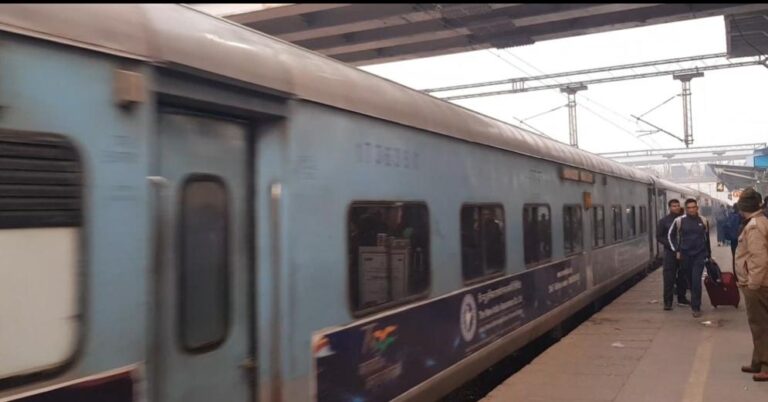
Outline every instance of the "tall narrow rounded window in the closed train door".
<svg viewBox="0 0 768 402">
<path fill-rule="evenodd" d="M 183 183 L 179 234 L 181 344 L 209 348 L 224 340 L 229 324 L 229 195 L 219 177 Z"/>
</svg>

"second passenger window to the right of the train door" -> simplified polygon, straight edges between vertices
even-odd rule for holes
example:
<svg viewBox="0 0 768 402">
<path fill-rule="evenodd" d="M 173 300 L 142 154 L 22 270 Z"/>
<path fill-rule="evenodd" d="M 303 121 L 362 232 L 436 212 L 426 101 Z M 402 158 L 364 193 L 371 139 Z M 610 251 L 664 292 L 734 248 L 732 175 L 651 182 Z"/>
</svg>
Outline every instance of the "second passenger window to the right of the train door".
<svg viewBox="0 0 768 402">
<path fill-rule="evenodd" d="M 501 205 L 465 205 L 461 208 L 461 268 L 464 281 L 504 270 L 504 208 Z"/>
</svg>

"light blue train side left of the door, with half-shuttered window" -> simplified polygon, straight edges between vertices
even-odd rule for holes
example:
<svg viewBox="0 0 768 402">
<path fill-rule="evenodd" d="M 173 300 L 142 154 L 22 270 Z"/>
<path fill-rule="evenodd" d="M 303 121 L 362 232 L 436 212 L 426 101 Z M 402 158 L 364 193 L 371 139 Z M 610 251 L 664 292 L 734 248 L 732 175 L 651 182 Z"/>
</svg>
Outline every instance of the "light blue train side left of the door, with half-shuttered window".
<svg viewBox="0 0 768 402">
<path fill-rule="evenodd" d="M 3 160 L 4 201 L 39 207 L 18 215 L 17 229 L 0 228 L 0 248 L 22 241 L 16 258 L 2 263 L 0 283 L 27 289 L 18 300 L 0 294 L 0 306 L 11 310 L 0 319 L 17 317 L 15 329 L 4 331 L 8 338 L 0 336 L 0 397 L 105 371 L 139 379 L 147 346 L 152 107 L 120 108 L 113 90 L 116 69 L 145 67 L 12 34 L 0 34 L 0 42 L 0 141 L 13 137 L 3 143 L 10 147 L 4 156 L 16 158 Z M 72 162 L 55 153 L 48 135 L 76 150 Z M 20 165 L 22 157 L 28 164 Z M 76 221 L 60 220 L 71 213 Z M 50 221 L 34 220 L 46 214 Z M 11 231 L 25 234 L 14 240 Z M 71 233 L 64 243 L 62 231 Z M 62 315 L 41 317 L 46 312 Z M 35 350 L 48 356 L 26 361 Z"/>
</svg>

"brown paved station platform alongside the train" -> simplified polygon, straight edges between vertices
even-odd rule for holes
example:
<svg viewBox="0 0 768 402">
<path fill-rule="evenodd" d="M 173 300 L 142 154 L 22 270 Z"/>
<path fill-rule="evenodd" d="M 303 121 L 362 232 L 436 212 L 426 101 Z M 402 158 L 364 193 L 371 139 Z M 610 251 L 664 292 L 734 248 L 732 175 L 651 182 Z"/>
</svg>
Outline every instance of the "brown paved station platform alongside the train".
<svg viewBox="0 0 768 402">
<path fill-rule="evenodd" d="M 730 248 L 712 252 L 731 269 Z M 704 289 L 699 318 L 662 306 L 659 268 L 482 401 L 768 401 L 768 383 L 740 370 L 752 354 L 743 297 L 715 309 Z"/>
</svg>

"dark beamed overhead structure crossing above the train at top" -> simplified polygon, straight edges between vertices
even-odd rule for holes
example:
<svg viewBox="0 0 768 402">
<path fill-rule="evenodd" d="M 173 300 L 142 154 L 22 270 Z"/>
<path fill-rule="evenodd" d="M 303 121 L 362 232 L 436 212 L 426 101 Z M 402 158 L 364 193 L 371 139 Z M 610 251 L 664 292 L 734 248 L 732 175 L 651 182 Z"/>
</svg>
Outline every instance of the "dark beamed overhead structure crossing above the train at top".
<svg viewBox="0 0 768 402">
<path fill-rule="evenodd" d="M 728 3 L 194 6 L 353 65 L 508 48 L 694 18 L 768 13 L 768 4 Z M 764 35 L 761 40 L 768 44 L 765 29 L 751 35 Z M 743 48 L 738 40 L 733 47 Z"/>
</svg>

